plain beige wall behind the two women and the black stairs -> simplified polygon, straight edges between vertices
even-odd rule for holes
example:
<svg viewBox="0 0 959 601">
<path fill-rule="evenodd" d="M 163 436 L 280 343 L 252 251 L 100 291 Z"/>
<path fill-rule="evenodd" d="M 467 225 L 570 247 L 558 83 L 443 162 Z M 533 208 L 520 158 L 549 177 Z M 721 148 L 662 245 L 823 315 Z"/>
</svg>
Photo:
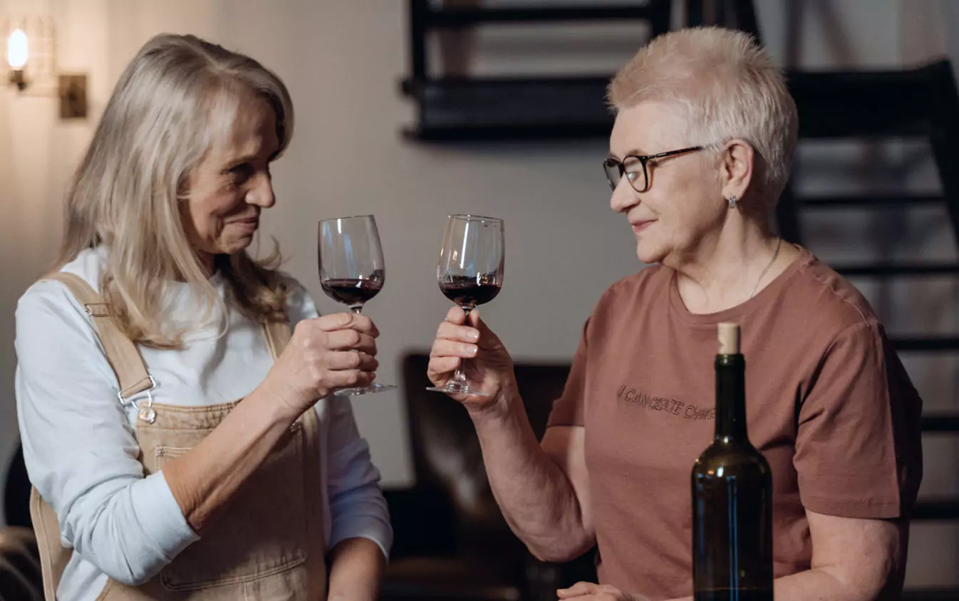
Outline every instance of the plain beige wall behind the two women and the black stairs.
<svg viewBox="0 0 959 601">
<path fill-rule="evenodd" d="M 795 26 L 784 16 L 784 0 L 757 4 L 767 43 L 774 56 L 784 59 L 785 28 Z M 831 21 L 823 21 L 821 13 L 807 13 L 800 64 L 893 65 L 904 55 L 915 58 L 924 52 L 903 41 L 915 41 L 915 34 L 909 33 L 915 28 L 904 27 L 912 17 L 901 12 L 898 0 L 816 4 L 831 8 L 833 14 L 827 15 Z M 938 8 L 931 0 L 926 4 L 929 10 Z M 16 298 L 53 257 L 66 180 L 113 82 L 137 48 L 161 31 L 202 35 L 246 52 L 290 85 L 298 111 L 297 132 L 274 171 L 278 204 L 265 219 L 264 229 L 282 243 L 290 257 L 288 268 L 314 293 L 322 311 L 339 307 L 322 295 L 316 281 L 316 220 L 359 213 L 377 216 L 388 278 L 386 289 L 367 312 L 383 331 L 380 381 L 399 383 L 401 354 L 428 348 L 448 307 L 435 286 L 434 262 L 443 221 L 451 212 L 479 212 L 506 220 L 506 286 L 483 314 L 514 357 L 572 356 L 582 321 L 602 290 L 642 267 L 629 230 L 607 208 L 608 189 L 598 167 L 604 145 L 599 141 L 431 147 L 404 142 L 398 129 L 412 116 L 409 103 L 397 93 L 397 81 L 406 71 L 405 6 L 401 0 L 0 0 L 0 15 L 47 12 L 57 19 L 61 67 L 89 73 L 93 113 L 87 123 L 65 124 L 55 118 L 53 100 L 18 98 L 0 89 L 0 465 L 6 462 L 16 431 L 12 399 Z M 826 22 L 838 25 L 832 31 L 823 27 Z M 626 58 L 636 43 L 630 39 L 633 32 L 622 28 L 602 43 L 589 42 L 593 36 L 569 29 L 540 35 L 537 47 L 502 31 L 480 34 L 482 58 L 477 68 L 484 72 L 515 68 L 511 57 L 522 52 L 526 65 L 544 71 L 554 71 L 557 65 L 603 71 Z M 573 41 L 583 38 L 589 42 L 585 53 L 573 51 Z M 559 51 L 542 51 L 556 39 L 568 43 Z M 854 145 L 803 150 L 805 187 L 857 185 L 856 169 L 870 151 Z M 890 160 L 909 151 L 901 146 L 882 150 Z M 929 179 L 928 169 L 920 172 L 910 176 L 917 186 Z M 843 219 L 841 225 L 835 220 L 812 222 L 809 243 L 824 258 L 866 257 L 887 243 L 877 240 L 873 221 L 856 215 Z M 924 231 L 930 222 L 941 225 L 934 216 L 903 222 L 916 231 Z M 921 238 L 901 252 L 927 254 L 950 248 L 941 227 Z M 864 289 L 891 330 L 956 326 L 955 287 L 932 286 L 898 287 L 891 300 L 883 300 L 881 290 Z M 917 315 L 916 307 L 922 315 Z M 954 358 L 909 361 L 927 403 L 954 407 Z M 386 483 L 408 483 L 404 409 L 397 396 L 363 397 L 354 405 Z M 959 493 L 955 477 L 959 445 L 930 441 L 926 450 L 930 459 L 924 492 Z M 911 581 L 954 582 L 959 530 L 920 526 L 915 539 Z"/>
</svg>

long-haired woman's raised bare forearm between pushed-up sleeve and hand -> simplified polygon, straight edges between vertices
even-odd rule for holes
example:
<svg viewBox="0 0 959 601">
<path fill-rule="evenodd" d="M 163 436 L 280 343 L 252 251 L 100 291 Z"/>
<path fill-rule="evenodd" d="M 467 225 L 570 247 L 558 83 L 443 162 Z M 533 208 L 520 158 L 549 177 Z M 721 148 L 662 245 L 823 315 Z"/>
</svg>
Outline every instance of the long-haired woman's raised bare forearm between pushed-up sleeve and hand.
<svg viewBox="0 0 959 601">
<path fill-rule="evenodd" d="M 216 519 L 296 419 L 257 388 L 193 450 L 163 468 L 183 516 L 197 532 Z"/>
</svg>

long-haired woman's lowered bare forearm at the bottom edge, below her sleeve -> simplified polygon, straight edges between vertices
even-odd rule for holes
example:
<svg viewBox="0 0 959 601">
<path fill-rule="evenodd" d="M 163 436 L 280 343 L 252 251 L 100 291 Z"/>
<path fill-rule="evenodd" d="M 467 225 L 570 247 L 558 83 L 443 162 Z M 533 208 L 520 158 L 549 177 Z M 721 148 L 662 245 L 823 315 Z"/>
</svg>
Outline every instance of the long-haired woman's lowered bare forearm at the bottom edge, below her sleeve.
<svg viewBox="0 0 959 601">
<path fill-rule="evenodd" d="M 346 539 L 330 552 L 329 601 L 375 601 L 386 557 L 369 539 Z"/>
</svg>

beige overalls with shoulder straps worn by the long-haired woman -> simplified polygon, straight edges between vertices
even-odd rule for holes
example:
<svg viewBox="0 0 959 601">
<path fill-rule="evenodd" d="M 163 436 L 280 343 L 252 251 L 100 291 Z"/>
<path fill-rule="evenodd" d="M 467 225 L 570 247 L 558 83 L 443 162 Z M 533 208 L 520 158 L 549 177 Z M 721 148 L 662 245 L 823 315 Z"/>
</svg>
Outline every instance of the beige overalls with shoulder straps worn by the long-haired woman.
<svg viewBox="0 0 959 601">
<path fill-rule="evenodd" d="M 152 403 L 155 382 L 133 342 L 109 318 L 109 307 L 82 278 L 46 277 L 67 286 L 93 317 L 106 358 L 120 382 L 119 402 L 146 393 L 138 409 L 136 439 L 144 475 L 193 449 L 236 403 L 201 407 Z M 289 323 L 264 326 L 275 359 L 290 340 Z M 232 499 L 203 538 L 188 546 L 149 582 L 129 587 L 112 579 L 98 601 L 233 601 L 326 598 L 326 539 L 316 411 L 303 414 L 267 460 Z M 63 569 L 73 553 L 60 543 L 57 514 L 37 494 L 31 497 L 43 589 L 56 598 Z"/>
</svg>

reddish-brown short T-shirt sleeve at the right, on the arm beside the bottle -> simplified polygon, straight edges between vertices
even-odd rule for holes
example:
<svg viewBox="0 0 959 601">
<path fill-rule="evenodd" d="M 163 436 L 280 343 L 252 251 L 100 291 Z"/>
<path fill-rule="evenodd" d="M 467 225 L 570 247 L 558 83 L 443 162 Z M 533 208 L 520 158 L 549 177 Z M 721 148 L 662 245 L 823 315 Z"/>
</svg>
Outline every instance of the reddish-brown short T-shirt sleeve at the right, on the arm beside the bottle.
<svg viewBox="0 0 959 601">
<path fill-rule="evenodd" d="M 876 323 L 837 335 L 799 408 L 803 505 L 843 518 L 907 517 L 922 478 L 922 401 Z"/>
</svg>

